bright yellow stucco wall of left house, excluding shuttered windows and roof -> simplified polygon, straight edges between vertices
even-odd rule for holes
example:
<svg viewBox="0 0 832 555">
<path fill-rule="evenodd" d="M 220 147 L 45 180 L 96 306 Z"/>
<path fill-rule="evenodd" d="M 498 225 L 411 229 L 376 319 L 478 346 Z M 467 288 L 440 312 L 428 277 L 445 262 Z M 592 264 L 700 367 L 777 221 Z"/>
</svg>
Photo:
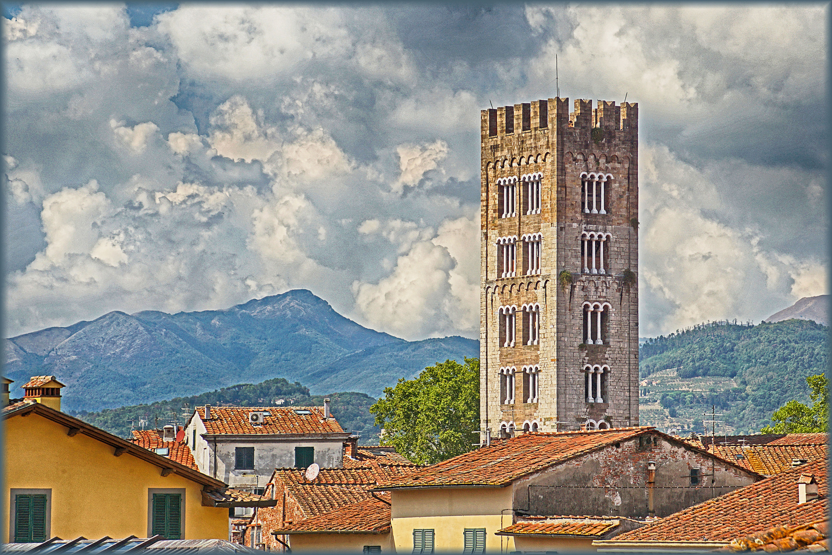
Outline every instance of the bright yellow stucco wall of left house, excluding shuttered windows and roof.
<svg viewBox="0 0 832 555">
<path fill-rule="evenodd" d="M 112 445 L 77 430 L 69 435 L 66 425 L 34 412 L 12 415 L 4 424 L 2 541 L 14 541 L 12 489 L 47 493 L 47 538 L 148 538 L 151 494 L 176 492 L 185 505 L 182 539 L 228 539 L 228 509 L 203 504 L 210 478 L 199 483 L 176 473 L 162 476 L 159 466 L 129 452 L 115 456 Z"/>
</svg>

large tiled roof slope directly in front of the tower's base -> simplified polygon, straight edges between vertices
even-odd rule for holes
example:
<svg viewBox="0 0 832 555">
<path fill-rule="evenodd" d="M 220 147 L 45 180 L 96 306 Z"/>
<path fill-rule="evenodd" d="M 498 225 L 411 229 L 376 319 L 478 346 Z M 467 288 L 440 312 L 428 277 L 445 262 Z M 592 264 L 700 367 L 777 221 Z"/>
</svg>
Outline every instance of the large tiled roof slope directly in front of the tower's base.
<svg viewBox="0 0 832 555">
<path fill-rule="evenodd" d="M 568 458 L 608 444 L 655 432 L 651 427 L 617 428 L 554 434 L 522 434 L 418 468 L 404 478 L 379 483 L 384 489 L 466 485 L 503 486 Z M 668 436 L 669 437 L 669 436 Z"/>
</svg>

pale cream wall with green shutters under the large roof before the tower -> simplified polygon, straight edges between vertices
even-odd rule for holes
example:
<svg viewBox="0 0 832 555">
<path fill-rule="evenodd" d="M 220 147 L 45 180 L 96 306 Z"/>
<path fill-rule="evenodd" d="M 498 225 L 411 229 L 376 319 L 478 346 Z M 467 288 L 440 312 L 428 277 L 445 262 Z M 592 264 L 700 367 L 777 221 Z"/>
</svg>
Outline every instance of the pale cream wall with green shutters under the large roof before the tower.
<svg viewBox="0 0 832 555">
<path fill-rule="evenodd" d="M 411 553 L 414 530 L 433 529 L 437 552 L 462 552 L 465 528 L 486 529 L 486 551 L 514 551 L 512 538 L 497 536 L 512 524 L 512 488 L 429 488 L 394 489 L 392 503 L 393 538 L 396 551 Z"/>
</svg>

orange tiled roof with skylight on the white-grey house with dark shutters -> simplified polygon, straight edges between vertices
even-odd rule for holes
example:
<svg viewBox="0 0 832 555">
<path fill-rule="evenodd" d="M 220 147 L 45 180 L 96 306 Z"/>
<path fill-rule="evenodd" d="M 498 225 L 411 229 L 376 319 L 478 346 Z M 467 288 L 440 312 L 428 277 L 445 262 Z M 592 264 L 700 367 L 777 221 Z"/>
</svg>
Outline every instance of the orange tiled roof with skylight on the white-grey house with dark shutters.
<svg viewBox="0 0 832 555">
<path fill-rule="evenodd" d="M 310 411 L 298 414 L 295 411 Z M 249 422 L 249 414 L 267 412 L 263 424 Z M 205 419 L 205 407 L 197 407 L 207 434 L 344 434 L 334 418 L 324 419 L 323 407 L 211 407 Z"/>
</svg>

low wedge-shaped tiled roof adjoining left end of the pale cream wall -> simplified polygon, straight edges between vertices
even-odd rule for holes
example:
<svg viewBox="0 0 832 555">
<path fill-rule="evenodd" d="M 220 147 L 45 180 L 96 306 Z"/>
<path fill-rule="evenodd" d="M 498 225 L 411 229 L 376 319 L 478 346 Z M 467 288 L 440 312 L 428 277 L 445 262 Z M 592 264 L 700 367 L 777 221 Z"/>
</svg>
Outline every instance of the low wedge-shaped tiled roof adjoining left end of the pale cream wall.
<svg viewBox="0 0 832 555">
<path fill-rule="evenodd" d="M 390 531 L 390 495 L 377 494 L 350 503 L 344 507 L 320 514 L 312 518 L 305 518 L 292 523 L 285 528 L 278 528 L 275 533 L 370 533 L 382 534 Z"/>
</svg>

